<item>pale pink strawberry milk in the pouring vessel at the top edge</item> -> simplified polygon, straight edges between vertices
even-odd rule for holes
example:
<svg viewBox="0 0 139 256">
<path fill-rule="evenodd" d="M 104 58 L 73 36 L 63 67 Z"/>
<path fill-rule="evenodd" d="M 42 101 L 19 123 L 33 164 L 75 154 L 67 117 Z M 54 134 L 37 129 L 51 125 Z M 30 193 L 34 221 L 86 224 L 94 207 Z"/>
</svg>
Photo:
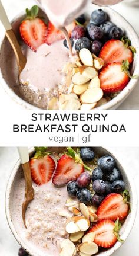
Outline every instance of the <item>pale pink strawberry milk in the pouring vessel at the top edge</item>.
<svg viewBox="0 0 139 256">
<path fill-rule="evenodd" d="M 89 0 L 38 0 L 55 27 L 62 28 L 77 18 Z"/>
</svg>

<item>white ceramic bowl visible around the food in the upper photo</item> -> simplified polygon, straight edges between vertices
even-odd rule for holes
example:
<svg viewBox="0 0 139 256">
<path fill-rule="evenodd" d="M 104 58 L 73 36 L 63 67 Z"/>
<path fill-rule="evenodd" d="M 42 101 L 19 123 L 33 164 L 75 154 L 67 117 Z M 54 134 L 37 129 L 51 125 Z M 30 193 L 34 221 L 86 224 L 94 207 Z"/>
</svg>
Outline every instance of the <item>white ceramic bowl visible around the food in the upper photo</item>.
<svg viewBox="0 0 139 256">
<path fill-rule="evenodd" d="M 87 15 L 90 17 L 91 12 L 94 9 L 98 9 L 99 7 L 97 5 L 90 5 L 90 8 L 87 10 Z M 121 17 L 120 14 L 112 10 L 111 8 L 108 7 L 102 7 L 104 11 L 107 12 L 108 16 L 110 17 L 110 20 L 115 23 L 118 27 L 123 28 L 123 31 L 126 31 L 127 37 L 131 40 L 132 45 L 136 48 L 137 54 L 135 55 L 133 67 L 132 67 L 132 73 L 135 75 L 138 74 L 139 71 L 139 39 L 137 34 L 135 33 L 135 30 L 131 25 L 128 23 L 127 20 L 125 20 L 123 17 Z M 19 27 L 19 23 L 22 20 L 22 15 L 19 14 L 18 17 L 15 17 L 14 20 L 12 20 L 12 23 L 15 24 L 15 27 Z M 4 56 L 2 55 L 3 48 L 2 43 L 4 41 L 5 35 L 2 33 L 0 35 L 0 66 L 2 63 L 2 58 L 4 59 Z M 6 49 L 5 49 L 6 50 Z M 6 65 L 6 63 L 5 63 Z M 5 91 L 9 94 L 9 97 L 11 97 L 16 103 L 22 105 L 24 108 L 27 109 L 37 109 L 37 107 L 34 107 L 33 105 L 27 103 L 26 101 L 22 100 L 19 95 L 15 94 L 13 89 L 11 89 L 10 85 L 7 84 L 5 79 L 3 78 L 2 75 L 2 69 L 0 69 L 0 81 L 1 85 L 4 87 Z M 127 96 L 130 94 L 130 92 L 134 89 L 135 85 L 137 85 L 138 79 L 131 79 L 130 82 L 128 83 L 127 87 L 123 89 L 123 91 L 120 92 L 120 94 L 117 95 L 114 99 L 109 101 L 107 104 L 102 105 L 101 107 L 98 107 L 99 109 L 115 109 L 117 108 L 124 100 L 127 98 Z M 128 100 L 128 99 L 127 99 Z"/>
</svg>

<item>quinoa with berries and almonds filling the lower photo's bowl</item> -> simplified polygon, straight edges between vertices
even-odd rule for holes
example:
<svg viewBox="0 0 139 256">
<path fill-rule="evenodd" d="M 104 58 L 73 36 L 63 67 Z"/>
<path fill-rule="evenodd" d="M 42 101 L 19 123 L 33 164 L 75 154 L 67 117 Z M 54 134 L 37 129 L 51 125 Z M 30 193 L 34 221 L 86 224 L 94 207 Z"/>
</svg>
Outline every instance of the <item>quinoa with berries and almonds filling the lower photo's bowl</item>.
<svg viewBox="0 0 139 256">
<path fill-rule="evenodd" d="M 114 158 L 94 152 L 87 147 L 35 148 L 30 159 L 35 197 L 26 212 L 27 229 L 22 221 L 24 178 L 16 184 L 12 219 L 37 255 L 91 256 L 123 242 L 119 232 L 130 195 Z"/>
</svg>

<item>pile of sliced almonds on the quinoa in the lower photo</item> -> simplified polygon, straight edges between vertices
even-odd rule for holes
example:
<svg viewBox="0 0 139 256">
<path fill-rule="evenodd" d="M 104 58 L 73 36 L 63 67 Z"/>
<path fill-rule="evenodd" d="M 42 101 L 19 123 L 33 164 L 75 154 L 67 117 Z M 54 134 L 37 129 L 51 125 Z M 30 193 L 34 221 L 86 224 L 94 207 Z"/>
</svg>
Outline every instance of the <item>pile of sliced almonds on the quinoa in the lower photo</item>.
<svg viewBox="0 0 139 256">
<path fill-rule="evenodd" d="M 59 215 L 66 217 L 65 231 L 69 239 L 62 239 L 59 246 L 59 256 L 91 256 L 98 252 L 94 243 L 95 233 L 86 233 L 92 222 L 97 222 L 97 208 L 79 203 L 77 199 L 68 198 L 64 209 Z"/>
</svg>

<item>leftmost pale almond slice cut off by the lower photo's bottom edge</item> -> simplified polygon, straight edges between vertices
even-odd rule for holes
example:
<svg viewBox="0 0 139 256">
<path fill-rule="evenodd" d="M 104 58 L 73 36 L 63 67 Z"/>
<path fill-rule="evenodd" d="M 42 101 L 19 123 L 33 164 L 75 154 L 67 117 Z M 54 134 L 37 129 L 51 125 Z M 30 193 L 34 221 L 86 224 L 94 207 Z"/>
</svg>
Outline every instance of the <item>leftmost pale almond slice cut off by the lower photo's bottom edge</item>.
<svg viewBox="0 0 139 256">
<path fill-rule="evenodd" d="M 64 239 L 60 245 L 61 252 L 59 256 L 74 256 L 76 254 L 76 247 L 69 239 Z"/>
</svg>

